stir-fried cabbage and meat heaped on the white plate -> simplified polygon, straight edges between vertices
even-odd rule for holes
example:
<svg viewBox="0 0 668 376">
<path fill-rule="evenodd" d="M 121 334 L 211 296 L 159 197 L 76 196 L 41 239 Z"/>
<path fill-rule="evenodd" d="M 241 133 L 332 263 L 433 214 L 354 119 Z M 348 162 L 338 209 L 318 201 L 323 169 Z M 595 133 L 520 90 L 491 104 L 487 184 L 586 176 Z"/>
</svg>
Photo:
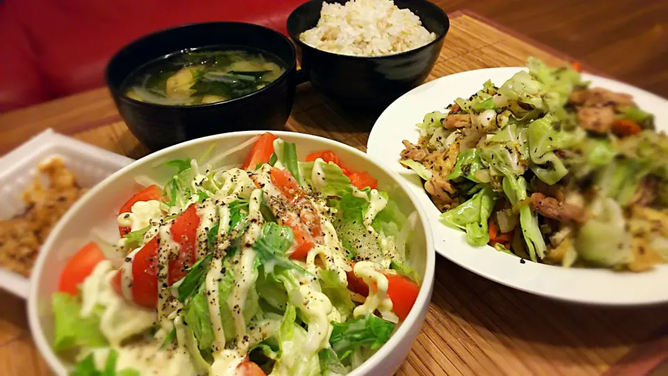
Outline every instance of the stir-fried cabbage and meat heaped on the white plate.
<svg viewBox="0 0 668 376">
<path fill-rule="evenodd" d="M 668 138 L 626 93 L 529 58 L 404 141 L 445 224 L 475 246 L 563 267 L 668 260 Z"/>
</svg>

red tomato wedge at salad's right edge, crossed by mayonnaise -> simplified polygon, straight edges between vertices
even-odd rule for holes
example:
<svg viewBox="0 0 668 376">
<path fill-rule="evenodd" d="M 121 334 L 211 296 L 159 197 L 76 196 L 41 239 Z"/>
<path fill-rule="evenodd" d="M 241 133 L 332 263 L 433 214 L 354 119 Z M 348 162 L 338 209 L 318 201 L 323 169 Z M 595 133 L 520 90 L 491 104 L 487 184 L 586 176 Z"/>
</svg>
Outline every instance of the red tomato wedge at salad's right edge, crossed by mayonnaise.
<svg viewBox="0 0 668 376">
<path fill-rule="evenodd" d="M 347 272 L 348 288 L 365 297 L 369 296 L 369 285 L 354 272 Z M 388 279 L 388 297 L 392 301 L 392 312 L 400 320 L 406 320 L 413 304 L 420 293 L 420 286 L 399 274 L 384 274 Z"/>
</svg>

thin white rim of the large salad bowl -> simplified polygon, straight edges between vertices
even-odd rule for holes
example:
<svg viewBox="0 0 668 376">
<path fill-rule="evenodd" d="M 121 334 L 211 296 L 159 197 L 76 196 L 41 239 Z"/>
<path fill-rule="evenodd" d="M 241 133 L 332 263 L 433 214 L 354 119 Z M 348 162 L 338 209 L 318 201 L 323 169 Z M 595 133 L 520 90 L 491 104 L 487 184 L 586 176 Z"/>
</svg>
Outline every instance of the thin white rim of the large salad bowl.
<svg viewBox="0 0 668 376">
<path fill-rule="evenodd" d="M 213 142 L 218 141 L 220 139 L 228 139 L 236 137 L 250 138 L 262 134 L 264 132 L 268 131 L 254 130 L 254 131 L 216 134 L 213 136 L 206 136 L 200 139 L 194 139 L 191 141 L 178 143 L 177 145 L 159 150 L 150 155 L 147 155 L 146 157 L 137 159 L 135 162 L 132 162 L 132 164 L 129 164 L 123 167 L 122 169 L 116 171 L 116 173 L 113 173 L 108 178 L 104 179 L 102 182 L 95 185 L 95 187 L 90 189 L 86 193 L 86 195 L 84 195 L 84 197 L 82 197 L 76 203 L 74 203 L 74 205 L 70 207 L 70 210 L 67 210 L 65 216 L 63 216 L 63 218 L 60 221 L 58 221 L 58 224 L 56 224 L 53 230 L 51 230 L 49 237 L 47 237 L 47 240 L 42 245 L 42 250 L 40 251 L 38 258 L 35 261 L 35 267 L 33 268 L 33 273 L 31 274 L 30 277 L 31 283 L 30 283 L 30 293 L 28 297 L 29 326 L 33 339 L 35 340 L 35 343 L 38 347 L 38 350 L 40 354 L 42 354 L 42 357 L 44 357 L 45 361 L 47 362 L 51 370 L 53 370 L 55 373 L 59 375 L 65 375 L 67 372 L 65 366 L 63 365 L 63 362 L 56 355 L 56 352 L 54 352 L 53 348 L 51 347 L 51 341 L 46 337 L 40 325 L 38 285 L 40 283 L 40 274 L 42 272 L 42 269 L 44 269 L 46 266 L 45 265 L 46 255 L 53 248 L 52 243 L 54 243 L 54 238 L 57 236 L 58 233 L 61 233 L 61 230 L 66 226 L 67 222 L 70 221 L 70 218 L 74 217 L 75 214 L 78 214 L 79 210 L 81 210 L 81 207 L 84 207 L 88 203 L 88 201 L 93 200 L 93 198 L 97 196 L 98 192 L 101 191 L 104 187 L 106 187 L 106 185 L 111 184 L 113 180 L 116 180 L 120 176 L 125 175 L 127 171 L 134 169 L 139 164 L 154 162 L 156 160 L 166 157 L 172 152 L 175 152 L 182 148 L 186 148 L 187 146 L 196 145 L 198 143 L 209 143 L 212 141 Z M 373 354 L 372 357 L 367 359 L 367 361 L 365 361 L 358 368 L 353 370 L 353 372 L 349 373 L 349 375 L 351 376 L 367 375 L 371 370 L 373 370 L 374 367 L 382 363 L 383 359 L 390 357 L 391 352 L 396 347 L 398 347 L 401 344 L 401 342 L 403 342 L 404 338 L 406 338 L 411 333 L 411 331 L 415 331 L 415 334 L 417 335 L 417 331 L 419 331 L 420 328 L 422 327 L 422 324 L 424 324 L 424 315 L 427 313 L 427 309 L 429 308 L 429 303 L 431 301 L 431 292 L 434 286 L 434 269 L 436 266 L 436 250 L 434 248 L 434 237 L 431 233 L 431 226 L 429 226 L 429 219 L 427 218 L 427 213 L 425 212 L 422 205 L 420 205 L 420 202 L 417 200 L 417 196 L 415 195 L 415 193 L 413 193 L 410 187 L 408 187 L 408 183 L 404 181 L 404 179 L 402 179 L 401 176 L 399 176 L 395 171 L 392 171 L 391 169 L 386 167 L 384 164 L 381 164 L 374 157 L 367 155 L 365 152 L 362 152 L 356 148 L 353 148 L 352 146 L 348 146 L 339 141 L 326 139 L 325 137 L 315 136 L 312 134 L 287 132 L 287 131 L 270 131 L 270 132 L 278 136 L 279 138 L 283 136 L 292 136 L 296 138 L 305 139 L 305 141 L 309 140 L 320 141 L 327 144 L 328 147 L 332 148 L 333 150 L 336 150 L 337 148 L 347 150 L 348 152 L 351 152 L 353 155 L 356 155 L 356 157 L 358 158 L 367 159 L 369 162 L 372 162 L 372 164 L 374 164 L 376 168 L 381 169 L 386 175 L 388 175 L 392 180 L 394 180 L 397 186 L 401 188 L 401 191 L 404 191 L 406 196 L 411 201 L 411 204 L 414 207 L 415 212 L 417 212 L 417 216 L 420 218 L 420 221 L 422 222 L 422 228 L 424 231 L 425 244 L 426 244 L 425 246 L 426 265 L 424 268 L 424 278 L 422 279 L 422 285 L 420 285 L 420 291 L 418 292 L 417 299 L 415 300 L 415 304 L 413 305 L 413 309 L 411 309 L 411 311 L 408 313 L 406 320 L 404 320 L 399 329 L 397 329 L 392 334 L 390 340 L 388 340 L 387 343 L 385 343 L 375 354 Z M 408 338 L 410 338 L 410 336 L 408 336 Z M 413 344 L 413 340 L 415 340 L 415 338 L 411 340 L 410 345 Z M 404 359 L 402 359 L 402 361 Z"/>
</svg>

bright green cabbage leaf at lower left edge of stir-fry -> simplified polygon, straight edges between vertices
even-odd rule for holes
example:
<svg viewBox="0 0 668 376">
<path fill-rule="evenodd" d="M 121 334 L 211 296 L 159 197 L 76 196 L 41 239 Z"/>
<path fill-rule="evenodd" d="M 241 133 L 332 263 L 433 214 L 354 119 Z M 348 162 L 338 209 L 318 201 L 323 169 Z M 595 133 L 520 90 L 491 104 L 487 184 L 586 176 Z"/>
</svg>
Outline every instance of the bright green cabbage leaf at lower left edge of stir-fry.
<svg viewBox="0 0 668 376">
<path fill-rule="evenodd" d="M 468 201 L 440 214 L 440 218 L 466 231 L 466 240 L 474 246 L 489 242 L 488 220 L 496 203 L 496 194 L 490 185 L 484 185 Z"/>
</svg>

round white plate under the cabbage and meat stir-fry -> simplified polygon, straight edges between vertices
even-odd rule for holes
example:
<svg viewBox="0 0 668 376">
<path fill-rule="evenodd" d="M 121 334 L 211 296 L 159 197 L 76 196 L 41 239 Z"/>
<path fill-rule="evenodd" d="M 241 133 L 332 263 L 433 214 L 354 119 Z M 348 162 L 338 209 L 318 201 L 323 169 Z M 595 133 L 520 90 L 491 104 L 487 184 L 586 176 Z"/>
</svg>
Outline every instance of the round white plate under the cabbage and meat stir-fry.
<svg viewBox="0 0 668 376">
<path fill-rule="evenodd" d="M 668 301 L 668 265 L 640 274 L 607 269 L 565 269 L 530 261 L 520 263 L 519 258 L 495 251 L 491 246 L 470 246 L 463 232 L 440 223 L 440 212 L 429 200 L 420 178 L 399 164 L 399 152 L 404 149 L 401 141 L 417 141 L 419 132 L 415 125 L 422 123 L 426 113 L 444 111 L 457 97 L 469 97 L 479 91 L 488 79 L 500 86 L 523 69 L 472 70 L 442 77 L 409 91 L 376 120 L 367 153 L 411 182 L 429 217 L 436 251 L 471 272 L 518 290 L 580 303 L 630 306 Z M 583 76 L 592 86 L 633 95 L 642 109 L 654 113 L 657 129 L 668 130 L 668 100 L 619 81 Z"/>
</svg>

